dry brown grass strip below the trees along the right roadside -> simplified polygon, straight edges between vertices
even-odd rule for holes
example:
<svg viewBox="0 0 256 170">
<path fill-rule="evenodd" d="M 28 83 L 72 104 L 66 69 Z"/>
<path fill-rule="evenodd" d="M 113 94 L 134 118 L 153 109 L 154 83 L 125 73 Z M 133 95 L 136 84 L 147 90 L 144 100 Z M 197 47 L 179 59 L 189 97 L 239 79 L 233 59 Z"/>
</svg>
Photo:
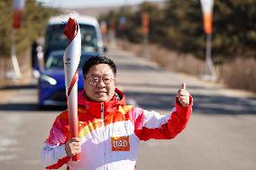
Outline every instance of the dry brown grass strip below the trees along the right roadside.
<svg viewBox="0 0 256 170">
<path fill-rule="evenodd" d="M 129 51 L 133 49 L 137 56 L 142 56 L 141 44 L 133 44 L 125 40 L 117 40 L 117 44 L 121 49 Z M 192 55 L 179 54 L 156 44 L 151 44 L 149 49 L 151 60 L 161 67 L 193 76 L 200 76 L 203 73 L 204 61 Z M 224 83 L 224 85 L 232 88 L 256 92 L 256 60 L 254 58 L 236 58 L 215 68 L 218 83 Z"/>
</svg>

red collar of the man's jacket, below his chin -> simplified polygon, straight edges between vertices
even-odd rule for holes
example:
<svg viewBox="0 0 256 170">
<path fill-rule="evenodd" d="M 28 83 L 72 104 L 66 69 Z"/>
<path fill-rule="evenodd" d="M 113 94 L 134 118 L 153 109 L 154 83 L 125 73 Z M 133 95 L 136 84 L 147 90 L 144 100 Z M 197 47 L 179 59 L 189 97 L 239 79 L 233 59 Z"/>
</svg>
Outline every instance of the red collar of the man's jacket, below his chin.
<svg viewBox="0 0 256 170">
<path fill-rule="evenodd" d="M 115 94 L 111 101 L 103 102 L 105 115 L 116 112 L 119 106 L 125 105 L 123 92 L 117 88 L 115 88 L 114 92 Z M 96 118 L 101 118 L 101 104 L 88 101 L 84 90 L 78 93 L 78 106 L 87 109 L 87 112 Z"/>
</svg>

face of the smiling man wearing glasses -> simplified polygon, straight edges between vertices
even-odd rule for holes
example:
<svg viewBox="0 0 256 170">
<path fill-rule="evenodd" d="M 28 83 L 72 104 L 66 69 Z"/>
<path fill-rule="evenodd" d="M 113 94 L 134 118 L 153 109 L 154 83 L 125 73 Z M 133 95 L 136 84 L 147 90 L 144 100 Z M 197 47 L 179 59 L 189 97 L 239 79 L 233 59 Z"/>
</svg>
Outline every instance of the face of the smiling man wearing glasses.
<svg viewBox="0 0 256 170">
<path fill-rule="evenodd" d="M 88 100 L 100 103 L 108 102 L 113 98 L 115 77 L 107 64 L 90 67 L 84 82 Z"/>
</svg>

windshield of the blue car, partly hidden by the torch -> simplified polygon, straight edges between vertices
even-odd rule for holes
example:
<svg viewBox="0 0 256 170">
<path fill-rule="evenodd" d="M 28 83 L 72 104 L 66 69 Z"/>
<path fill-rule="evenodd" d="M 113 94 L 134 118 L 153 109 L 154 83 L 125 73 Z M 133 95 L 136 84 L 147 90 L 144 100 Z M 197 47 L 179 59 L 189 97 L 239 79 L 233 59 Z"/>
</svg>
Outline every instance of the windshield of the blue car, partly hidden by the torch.
<svg viewBox="0 0 256 170">
<path fill-rule="evenodd" d="M 81 55 L 78 68 L 82 68 L 86 60 L 87 60 L 87 56 Z M 50 58 L 48 58 L 46 61 L 45 68 L 46 69 L 50 69 L 50 68 L 64 69 L 63 54 L 50 55 Z"/>
</svg>

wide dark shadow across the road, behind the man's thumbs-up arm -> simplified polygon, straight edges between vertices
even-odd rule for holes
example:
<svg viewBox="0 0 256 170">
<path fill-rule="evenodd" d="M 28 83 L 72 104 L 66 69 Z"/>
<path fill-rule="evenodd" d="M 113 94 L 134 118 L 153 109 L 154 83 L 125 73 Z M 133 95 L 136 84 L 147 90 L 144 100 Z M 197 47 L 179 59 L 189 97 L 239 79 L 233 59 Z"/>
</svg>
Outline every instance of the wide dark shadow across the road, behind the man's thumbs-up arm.
<svg viewBox="0 0 256 170">
<path fill-rule="evenodd" d="M 171 110 L 176 94 L 125 92 L 143 109 Z M 237 98 L 224 95 L 193 95 L 193 112 L 202 114 L 256 114 L 256 98 Z"/>
</svg>

